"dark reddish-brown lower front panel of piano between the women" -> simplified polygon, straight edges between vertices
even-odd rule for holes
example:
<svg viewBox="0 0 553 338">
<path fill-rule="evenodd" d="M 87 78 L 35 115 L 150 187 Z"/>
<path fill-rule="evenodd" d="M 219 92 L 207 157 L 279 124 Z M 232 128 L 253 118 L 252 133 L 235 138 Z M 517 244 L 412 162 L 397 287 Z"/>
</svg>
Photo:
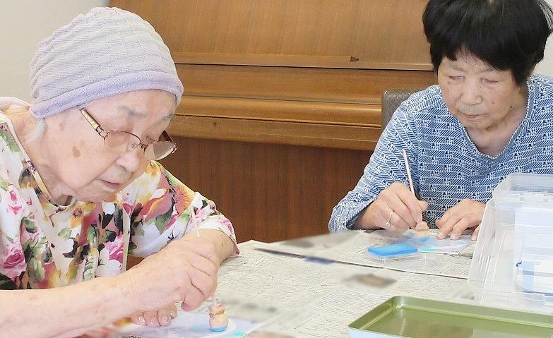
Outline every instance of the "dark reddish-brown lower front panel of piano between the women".
<svg viewBox="0 0 553 338">
<path fill-rule="evenodd" d="M 362 175 L 371 152 L 177 138 L 162 164 L 215 201 L 239 241 L 324 234 L 333 206 Z"/>
</svg>

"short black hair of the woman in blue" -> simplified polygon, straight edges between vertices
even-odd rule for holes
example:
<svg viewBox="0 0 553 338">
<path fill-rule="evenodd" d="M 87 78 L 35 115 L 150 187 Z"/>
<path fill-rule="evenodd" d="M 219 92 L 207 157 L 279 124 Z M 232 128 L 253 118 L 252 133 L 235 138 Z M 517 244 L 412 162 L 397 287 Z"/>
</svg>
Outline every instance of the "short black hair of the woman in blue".
<svg viewBox="0 0 553 338">
<path fill-rule="evenodd" d="M 434 71 L 468 52 L 523 85 L 543 59 L 553 11 L 545 0 L 429 0 L 422 23 Z"/>
</svg>

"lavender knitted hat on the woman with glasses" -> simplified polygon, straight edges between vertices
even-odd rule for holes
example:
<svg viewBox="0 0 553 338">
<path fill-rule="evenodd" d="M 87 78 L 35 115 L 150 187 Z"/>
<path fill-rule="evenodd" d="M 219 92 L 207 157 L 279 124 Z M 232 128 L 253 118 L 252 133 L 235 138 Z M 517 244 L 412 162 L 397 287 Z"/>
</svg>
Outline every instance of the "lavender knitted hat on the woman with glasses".
<svg viewBox="0 0 553 338">
<path fill-rule="evenodd" d="M 109 7 L 77 16 L 38 44 L 30 89 L 30 111 L 39 118 L 133 90 L 165 90 L 179 104 L 184 90 L 154 28 L 134 13 Z"/>
</svg>

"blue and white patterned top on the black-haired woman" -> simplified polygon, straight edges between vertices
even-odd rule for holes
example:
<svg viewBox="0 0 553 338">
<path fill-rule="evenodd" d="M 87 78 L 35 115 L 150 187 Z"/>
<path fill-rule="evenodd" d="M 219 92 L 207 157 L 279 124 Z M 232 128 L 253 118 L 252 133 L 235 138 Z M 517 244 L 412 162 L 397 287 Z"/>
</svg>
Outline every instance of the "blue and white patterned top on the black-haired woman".
<svg viewBox="0 0 553 338">
<path fill-rule="evenodd" d="M 334 207 L 328 229 L 349 229 L 381 191 L 396 181 L 408 184 L 402 149 L 417 197 L 429 202 L 424 218 L 431 227 L 460 200 L 486 203 L 508 174 L 553 174 L 553 78 L 531 76 L 527 87 L 526 116 L 496 157 L 472 143 L 438 85 L 411 95 L 393 114 L 357 186 Z"/>
</svg>

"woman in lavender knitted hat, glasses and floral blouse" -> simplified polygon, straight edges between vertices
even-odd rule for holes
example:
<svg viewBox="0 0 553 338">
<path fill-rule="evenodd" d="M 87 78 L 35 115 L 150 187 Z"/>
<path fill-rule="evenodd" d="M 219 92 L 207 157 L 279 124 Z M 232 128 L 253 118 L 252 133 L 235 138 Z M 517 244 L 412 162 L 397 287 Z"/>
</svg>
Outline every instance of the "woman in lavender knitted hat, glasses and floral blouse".
<svg viewBox="0 0 553 338">
<path fill-rule="evenodd" d="M 168 325 L 175 302 L 198 307 L 237 246 L 213 202 L 155 162 L 176 148 L 165 128 L 183 92 L 160 36 L 95 8 L 40 42 L 30 71 L 32 104 L 0 114 L 0 336 Z M 148 258 L 126 271 L 127 255 Z"/>
</svg>

